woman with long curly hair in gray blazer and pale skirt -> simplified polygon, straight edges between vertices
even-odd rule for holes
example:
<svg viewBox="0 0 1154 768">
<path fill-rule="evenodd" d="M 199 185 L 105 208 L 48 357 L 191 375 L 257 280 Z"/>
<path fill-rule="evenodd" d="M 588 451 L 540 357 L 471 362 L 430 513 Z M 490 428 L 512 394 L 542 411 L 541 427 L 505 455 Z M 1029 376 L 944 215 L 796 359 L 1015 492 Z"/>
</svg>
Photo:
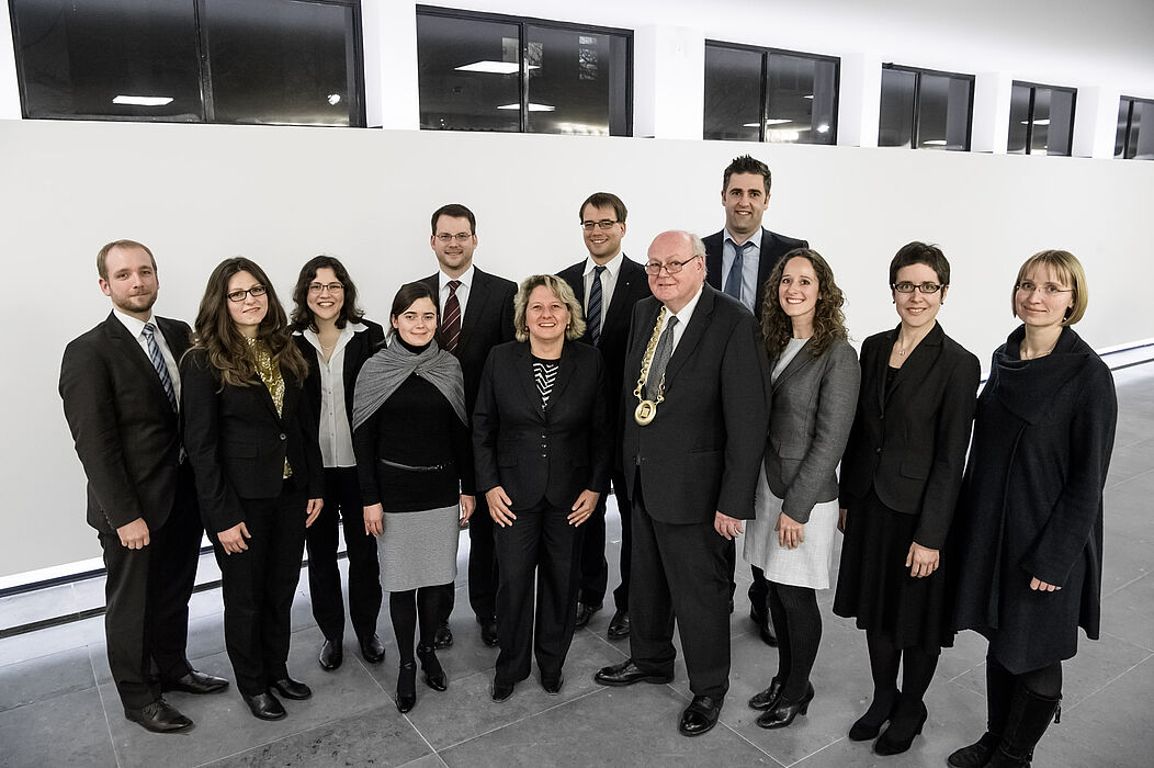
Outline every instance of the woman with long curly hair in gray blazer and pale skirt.
<svg viewBox="0 0 1154 768">
<path fill-rule="evenodd" d="M 834 469 L 849 438 L 860 368 L 846 341 L 845 298 L 830 264 L 796 248 L 766 281 L 762 330 L 771 363 L 770 434 L 745 559 L 765 572 L 778 673 L 749 700 L 760 728 L 785 728 L 814 698 L 822 640 L 818 589 L 830 586 L 838 524 Z"/>
</svg>

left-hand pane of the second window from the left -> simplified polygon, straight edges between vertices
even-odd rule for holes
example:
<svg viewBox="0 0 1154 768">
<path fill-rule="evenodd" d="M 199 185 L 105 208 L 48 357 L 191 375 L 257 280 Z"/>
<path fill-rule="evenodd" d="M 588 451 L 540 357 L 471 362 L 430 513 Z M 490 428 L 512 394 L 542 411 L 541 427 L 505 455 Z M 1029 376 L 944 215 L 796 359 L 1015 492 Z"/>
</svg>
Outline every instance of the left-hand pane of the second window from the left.
<svg viewBox="0 0 1154 768">
<path fill-rule="evenodd" d="M 517 24 L 417 15 L 421 128 L 520 131 Z"/>
</svg>

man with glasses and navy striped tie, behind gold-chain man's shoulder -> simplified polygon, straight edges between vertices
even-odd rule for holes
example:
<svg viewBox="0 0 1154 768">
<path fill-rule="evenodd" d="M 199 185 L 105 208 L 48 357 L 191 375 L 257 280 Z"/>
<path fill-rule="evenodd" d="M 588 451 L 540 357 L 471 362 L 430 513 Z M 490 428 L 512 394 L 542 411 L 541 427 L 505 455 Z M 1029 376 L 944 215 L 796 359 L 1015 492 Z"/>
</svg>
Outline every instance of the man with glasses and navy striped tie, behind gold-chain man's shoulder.
<svg viewBox="0 0 1154 768">
<path fill-rule="evenodd" d="M 652 296 L 645 268 L 621 251 L 625 234 L 625 203 L 608 192 L 597 192 L 582 203 L 578 211 L 589 258 L 557 273 L 569 283 L 585 311 L 585 333 L 580 341 L 597 346 L 605 358 L 609 392 L 609 424 L 616 434 L 620 427 L 620 395 L 629 342 L 629 319 L 634 305 Z M 585 523 L 582 544 L 580 588 L 577 592 L 577 627 L 589 624 L 601 609 L 609 580 L 605 559 L 605 502 L 608 487 L 599 489 L 597 509 Z M 617 467 L 613 471 L 613 491 L 621 515 L 621 584 L 613 590 L 616 610 L 609 621 L 609 640 L 629 636 L 629 551 L 632 547 L 629 493 L 625 476 Z"/>
</svg>

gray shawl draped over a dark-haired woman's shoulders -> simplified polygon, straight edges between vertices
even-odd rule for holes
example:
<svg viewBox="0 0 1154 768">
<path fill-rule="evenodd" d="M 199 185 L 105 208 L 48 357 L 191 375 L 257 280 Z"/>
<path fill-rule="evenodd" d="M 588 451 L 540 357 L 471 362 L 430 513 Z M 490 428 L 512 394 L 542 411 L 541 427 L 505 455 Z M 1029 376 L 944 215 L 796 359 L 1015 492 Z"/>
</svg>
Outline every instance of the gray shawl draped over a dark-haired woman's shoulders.
<svg viewBox="0 0 1154 768">
<path fill-rule="evenodd" d="M 462 424 L 469 424 L 469 416 L 465 413 L 465 381 L 457 358 L 437 346 L 435 341 L 429 342 L 420 355 L 414 355 L 394 340 L 366 360 L 357 374 L 353 428 L 367 422 L 414 373 L 436 387 L 452 405 Z"/>
</svg>

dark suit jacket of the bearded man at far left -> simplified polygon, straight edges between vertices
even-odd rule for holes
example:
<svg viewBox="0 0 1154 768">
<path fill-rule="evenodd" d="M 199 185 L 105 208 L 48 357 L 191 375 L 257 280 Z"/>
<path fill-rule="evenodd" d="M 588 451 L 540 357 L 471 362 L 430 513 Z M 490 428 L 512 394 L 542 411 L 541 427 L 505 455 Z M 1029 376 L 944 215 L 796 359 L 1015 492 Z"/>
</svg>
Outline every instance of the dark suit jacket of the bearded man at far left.
<svg viewBox="0 0 1154 768">
<path fill-rule="evenodd" d="M 188 325 L 153 320 L 179 361 Z M 143 517 L 160 528 L 177 491 L 178 418 L 148 355 L 114 315 L 65 348 L 60 396 L 88 476 L 88 523 L 112 532 Z"/>
</svg>

